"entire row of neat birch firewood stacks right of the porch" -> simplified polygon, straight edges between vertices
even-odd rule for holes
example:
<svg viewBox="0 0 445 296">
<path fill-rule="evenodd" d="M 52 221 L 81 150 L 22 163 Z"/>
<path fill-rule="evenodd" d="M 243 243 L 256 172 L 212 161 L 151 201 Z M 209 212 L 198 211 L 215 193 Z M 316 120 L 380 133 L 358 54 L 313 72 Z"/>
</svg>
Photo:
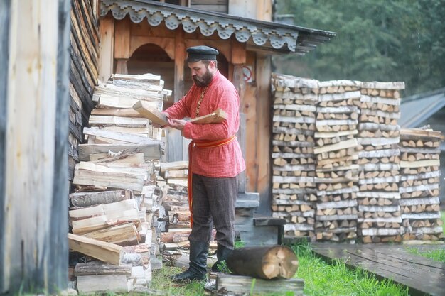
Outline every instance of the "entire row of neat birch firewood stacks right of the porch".
<svg viewBox="0 0 445 296">
<path fill-rule="evenodd" d="M 303 82 L 304 87 L 297 87 Z M 313 230 L 286 231 L 286 236 L 350 242 L 359 238 L 365 243 L 399 242 L 405 232 L 403 239 L 441 238 L 441 136 L 429 132 L 423 139 L 417 133 L 402 144 L 397 119 L 403 82 L 318 82 L 274 74 L 272 85 L 272 215 L 286 218 L 287 230 L 301 230 L 316 210 L 309 216 Z M 310 148 L 311 160 L 296 155 L 296 147 Z M 401 157 L 403 165 L 419 167 L 401 170 Z"/>
</svg>

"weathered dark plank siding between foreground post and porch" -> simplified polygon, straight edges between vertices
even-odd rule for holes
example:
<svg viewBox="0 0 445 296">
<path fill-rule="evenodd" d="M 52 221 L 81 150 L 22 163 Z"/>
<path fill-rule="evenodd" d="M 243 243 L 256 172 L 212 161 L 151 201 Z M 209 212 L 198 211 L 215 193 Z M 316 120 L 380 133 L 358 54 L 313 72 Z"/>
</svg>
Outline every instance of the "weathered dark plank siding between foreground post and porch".
<svg viewBox="0 0 445 296">
<path fill-rule="evenodd" d="M 82 129 L 94 106 L 92 93 L 99 76 L 99 27 L 97 1 L 71 2 L 70 33 L 70 110 L 68 141 L 69 180 L 73 180 L 75 163 L 79 161 L 77 146 L 82 143 Z"/>
</svg>

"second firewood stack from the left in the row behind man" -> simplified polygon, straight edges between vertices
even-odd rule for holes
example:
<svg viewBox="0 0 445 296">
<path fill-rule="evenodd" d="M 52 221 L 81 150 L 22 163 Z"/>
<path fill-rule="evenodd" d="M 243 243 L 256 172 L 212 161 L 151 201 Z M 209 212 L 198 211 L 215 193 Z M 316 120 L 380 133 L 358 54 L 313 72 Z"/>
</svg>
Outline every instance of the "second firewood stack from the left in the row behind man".
<svg viewBox="0 0 445 296">
<path fill-rule="evenodd" d="M 316 239 L 355 241 L 357 236 L 360 82 L 320 82 L 316 116 Z"/>
</svg>

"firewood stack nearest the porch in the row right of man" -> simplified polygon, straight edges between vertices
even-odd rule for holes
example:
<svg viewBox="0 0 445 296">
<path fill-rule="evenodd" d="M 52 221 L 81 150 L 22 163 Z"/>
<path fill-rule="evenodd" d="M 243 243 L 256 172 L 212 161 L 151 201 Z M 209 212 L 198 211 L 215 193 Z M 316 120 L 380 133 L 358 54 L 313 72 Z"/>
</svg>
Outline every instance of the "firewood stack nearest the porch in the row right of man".
<svg viewBox="0 0 445 296">
<path fill-rule="evenodd" d="M 318 81 L 274 75 L 272 216 L 284 218 L 284 236 L 314 239 L 313 155 Z"/>
</svg>

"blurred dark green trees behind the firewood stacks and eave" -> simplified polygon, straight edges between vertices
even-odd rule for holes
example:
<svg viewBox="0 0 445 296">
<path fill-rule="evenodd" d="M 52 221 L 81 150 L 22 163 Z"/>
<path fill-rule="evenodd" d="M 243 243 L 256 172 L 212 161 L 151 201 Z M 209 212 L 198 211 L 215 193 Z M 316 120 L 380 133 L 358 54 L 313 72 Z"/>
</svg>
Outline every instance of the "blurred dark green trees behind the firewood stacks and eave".
<svg viewBox="0 0 445 296">
<path fill-rule="evenodd" d="M 274 69 L 318 80 L 404 81 L 404 95 L 445 87 L 443 0 L 277 0 L 296 26 L 337 36 L 300 57 L 274 57 Z"/>
</svg>

